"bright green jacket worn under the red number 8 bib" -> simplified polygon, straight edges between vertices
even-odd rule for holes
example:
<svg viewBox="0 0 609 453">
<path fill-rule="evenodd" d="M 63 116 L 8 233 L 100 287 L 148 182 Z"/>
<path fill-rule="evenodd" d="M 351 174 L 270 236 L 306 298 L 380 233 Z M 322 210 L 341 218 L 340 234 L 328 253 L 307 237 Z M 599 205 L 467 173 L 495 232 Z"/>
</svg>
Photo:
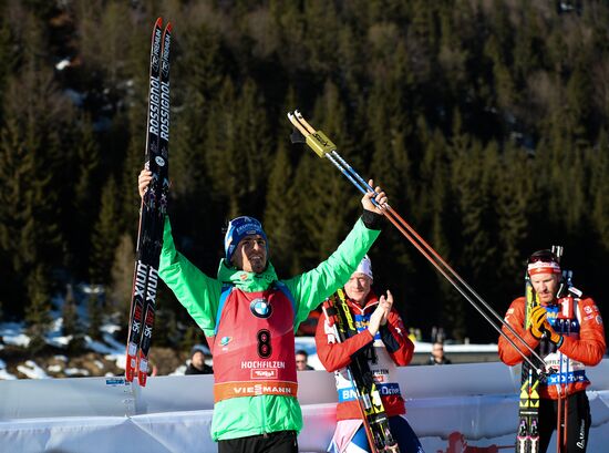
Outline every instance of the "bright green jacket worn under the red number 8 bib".
<svg viewBox="0 0 609 453">
<path fill-rule="evenodd" d="M 281 287 L 289 295 L 291 313 L 293 315 L 293 332 L 328 296 L 340 288 L 355 270 L 363 256 L 368 253 L 380 231 L 368 228 L 362 219 L 359 219 L 347 238 L 338 249 L 314 269 L 290 279 L 279 280 L 275 268 L 269 262 L 261 274 L 238 270 L 220 260 L 216 278 L 208 277 L 195 267 L 182 254 L 176 251 L 172 237 L 169 220 L 165 222 L 163 238 L 163 251 L 161 255 L 159 276 L 174 291 L 176 298 L 186 308 L 195 322 L 203 329 L 210 346 L 217 344 L 221 339 L 216 339 L 218 327 L 221 336 L 231 338 L 230 330 L 238 337 L 242 326 L 233 322 L 219 322 L 223 319 L 220 299 L 228 286 L 233 286 L 231 292 L 259 294 L 273 291 Z M 235 291 L 238 289 L 239 291 Z M 239 300 L 248 299 L 239 297 Z M 231 305 L 237 303 L 235 299 Z M 279 298 L 285 300 L 286 298 Z M 226 305 L 223 307 L 226 308 Z M 217 326 L 220 323 L 220 326 Z M 259 326 L 258 326 L 259 327 Z M 252 341 L 256 341 L 254 339 Z M 214 347 L 213 347 L 214 348 Z M 214 353 L 214 370 L 217 361 L 226 360 L 220 351 Z M 293 358 L 293 356 L 292 356 Z M 230 359 L 229 359 L 230 360 Z M 262 359 L 257 359 L 262 360 Z M 237 364 L 235 364 L 237 366 Z M 221 381 L 227 381 L 226 363 L 219 363 L 223 371 Z M 216 381 L 218 377 L 215 377 Z M 236 380 L 241 378 L 236 377 Z M 224 392 L 220 392 L 224 394 Z M 211 437 L 216 441 L 237 439 L 249 435 L 258 435 L 276 431 L 300 431 L 302 429 L 302 413 L 298 400 L 292 395 L 259 394 L 247 397 L 216 398 L 214 419 L 211 422 Z"/>
</svg>

